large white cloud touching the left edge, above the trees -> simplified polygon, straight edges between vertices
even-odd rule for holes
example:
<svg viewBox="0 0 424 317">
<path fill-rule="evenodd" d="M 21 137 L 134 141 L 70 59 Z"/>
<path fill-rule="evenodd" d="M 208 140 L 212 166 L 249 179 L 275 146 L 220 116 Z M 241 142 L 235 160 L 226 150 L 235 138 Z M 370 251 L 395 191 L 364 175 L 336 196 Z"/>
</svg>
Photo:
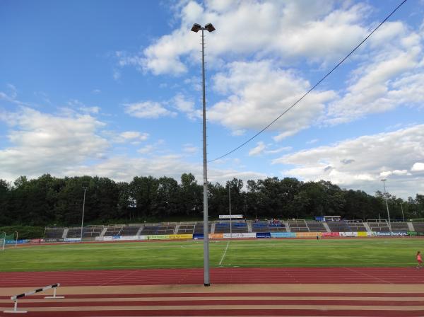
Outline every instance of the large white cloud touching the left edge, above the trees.
<svg viewBox="0 0 424 317">
<path fill-rule="evenodd" d="M 61 173 L 64 166 L 101 158 L 109 146 L 97 133 L 104 124 L 90 115 L 54 116 L 22 108 L 8 117 L 13 117 L 7 122 L 11 146 L 0 150 L 4 178 Z"/>
</svg>

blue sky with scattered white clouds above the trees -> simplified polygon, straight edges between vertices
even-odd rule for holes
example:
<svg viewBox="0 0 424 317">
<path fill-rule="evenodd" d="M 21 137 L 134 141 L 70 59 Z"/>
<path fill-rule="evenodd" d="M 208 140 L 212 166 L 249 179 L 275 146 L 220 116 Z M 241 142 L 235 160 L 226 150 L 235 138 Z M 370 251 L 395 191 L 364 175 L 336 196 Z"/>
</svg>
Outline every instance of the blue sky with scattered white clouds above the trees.
<svg viewBox="0 0 424 317">
<path fill-rule="evenodd" d="M 201 183 L 206 35 L 208 159 L 252 137 L 400 1 L 0 2 L 0 178 L 136 175 Z M 271 129 L 208 165 L 225 183 L 331 180 L 424 193 L 424 2 L 408 0 Z"/>
</svg>

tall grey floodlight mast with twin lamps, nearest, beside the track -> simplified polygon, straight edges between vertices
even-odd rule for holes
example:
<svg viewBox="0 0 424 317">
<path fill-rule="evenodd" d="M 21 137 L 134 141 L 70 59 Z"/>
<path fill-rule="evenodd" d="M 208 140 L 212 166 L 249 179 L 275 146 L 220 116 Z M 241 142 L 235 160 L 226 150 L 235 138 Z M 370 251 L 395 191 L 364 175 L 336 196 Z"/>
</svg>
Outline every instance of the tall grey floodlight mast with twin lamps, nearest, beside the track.
<svg viewBox="0 0 424 317">
<path fill-rule="evenodd" d="M 210 286 L 209 282 L 209 224 L 208 224 L 208 166 L 206 159 L 206 88 L 205 88 L 205 38 L 204 30 L 213 32 L 215 28 L 212 23 L 202 27 L 194 23 L 192 31 L 194 33 L 201 30 L 201 78 L 203 87 L 203 154 L 204 154 L 204 286 Z"/>
</svg>

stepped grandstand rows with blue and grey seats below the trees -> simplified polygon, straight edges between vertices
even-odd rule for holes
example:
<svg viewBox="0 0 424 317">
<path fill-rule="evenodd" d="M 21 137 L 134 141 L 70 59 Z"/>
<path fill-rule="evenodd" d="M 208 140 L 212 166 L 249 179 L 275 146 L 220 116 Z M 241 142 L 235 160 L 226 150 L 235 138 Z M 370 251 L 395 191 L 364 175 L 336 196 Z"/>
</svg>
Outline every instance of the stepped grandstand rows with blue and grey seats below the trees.
<svg viewBox="0 0 424 317">
<path fill-rule="evenodd" d="M 292 219 L 288 221 L 210 221 L 208 232 L 210 234 L 273 234 L 278 232 L 381 232 L 390 231 L 386 220 L 368 219 L 341 220 L 341 221 L 305 221 Z M 424 222 L 391 222 L 391 231 L 406 234 L 408 231 L 424 232 Z M 164 236 L 168 234 L 204 234 L 204 223 L 156 223 L 156 224 L 114 224 L 108 226 L 86 226 L 83 228 L 83 240 L 93 241 L 95 238 L 110 236 Z M 81 227 L 46 227 L 45 238 L 61 240 L 64 238 L 79 238 Z"/>
</svg>

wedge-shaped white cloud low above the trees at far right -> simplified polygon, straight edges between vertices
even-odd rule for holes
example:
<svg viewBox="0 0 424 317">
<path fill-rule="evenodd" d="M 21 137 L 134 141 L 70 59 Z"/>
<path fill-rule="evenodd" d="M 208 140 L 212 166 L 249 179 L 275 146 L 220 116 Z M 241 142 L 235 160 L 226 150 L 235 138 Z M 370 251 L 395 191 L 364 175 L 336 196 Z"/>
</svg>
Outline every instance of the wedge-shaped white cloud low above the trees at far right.
<svg viewBox="0 0 424 317">
<path fill-rule="evenodd" d="M 424 190 L 423 180 L 408 173 L 410 166 L 423 158 L 423 153 L 424 125 L 416 125 L 298 151 L 273 163 L 294 166 L 287 167 L 283 175 L 305 180 L 331 180 L 342 187 L 370 193 L 379 190 L 382 177 L 390 176 L 391 192 L 406 197 Z"/>
</svg>

